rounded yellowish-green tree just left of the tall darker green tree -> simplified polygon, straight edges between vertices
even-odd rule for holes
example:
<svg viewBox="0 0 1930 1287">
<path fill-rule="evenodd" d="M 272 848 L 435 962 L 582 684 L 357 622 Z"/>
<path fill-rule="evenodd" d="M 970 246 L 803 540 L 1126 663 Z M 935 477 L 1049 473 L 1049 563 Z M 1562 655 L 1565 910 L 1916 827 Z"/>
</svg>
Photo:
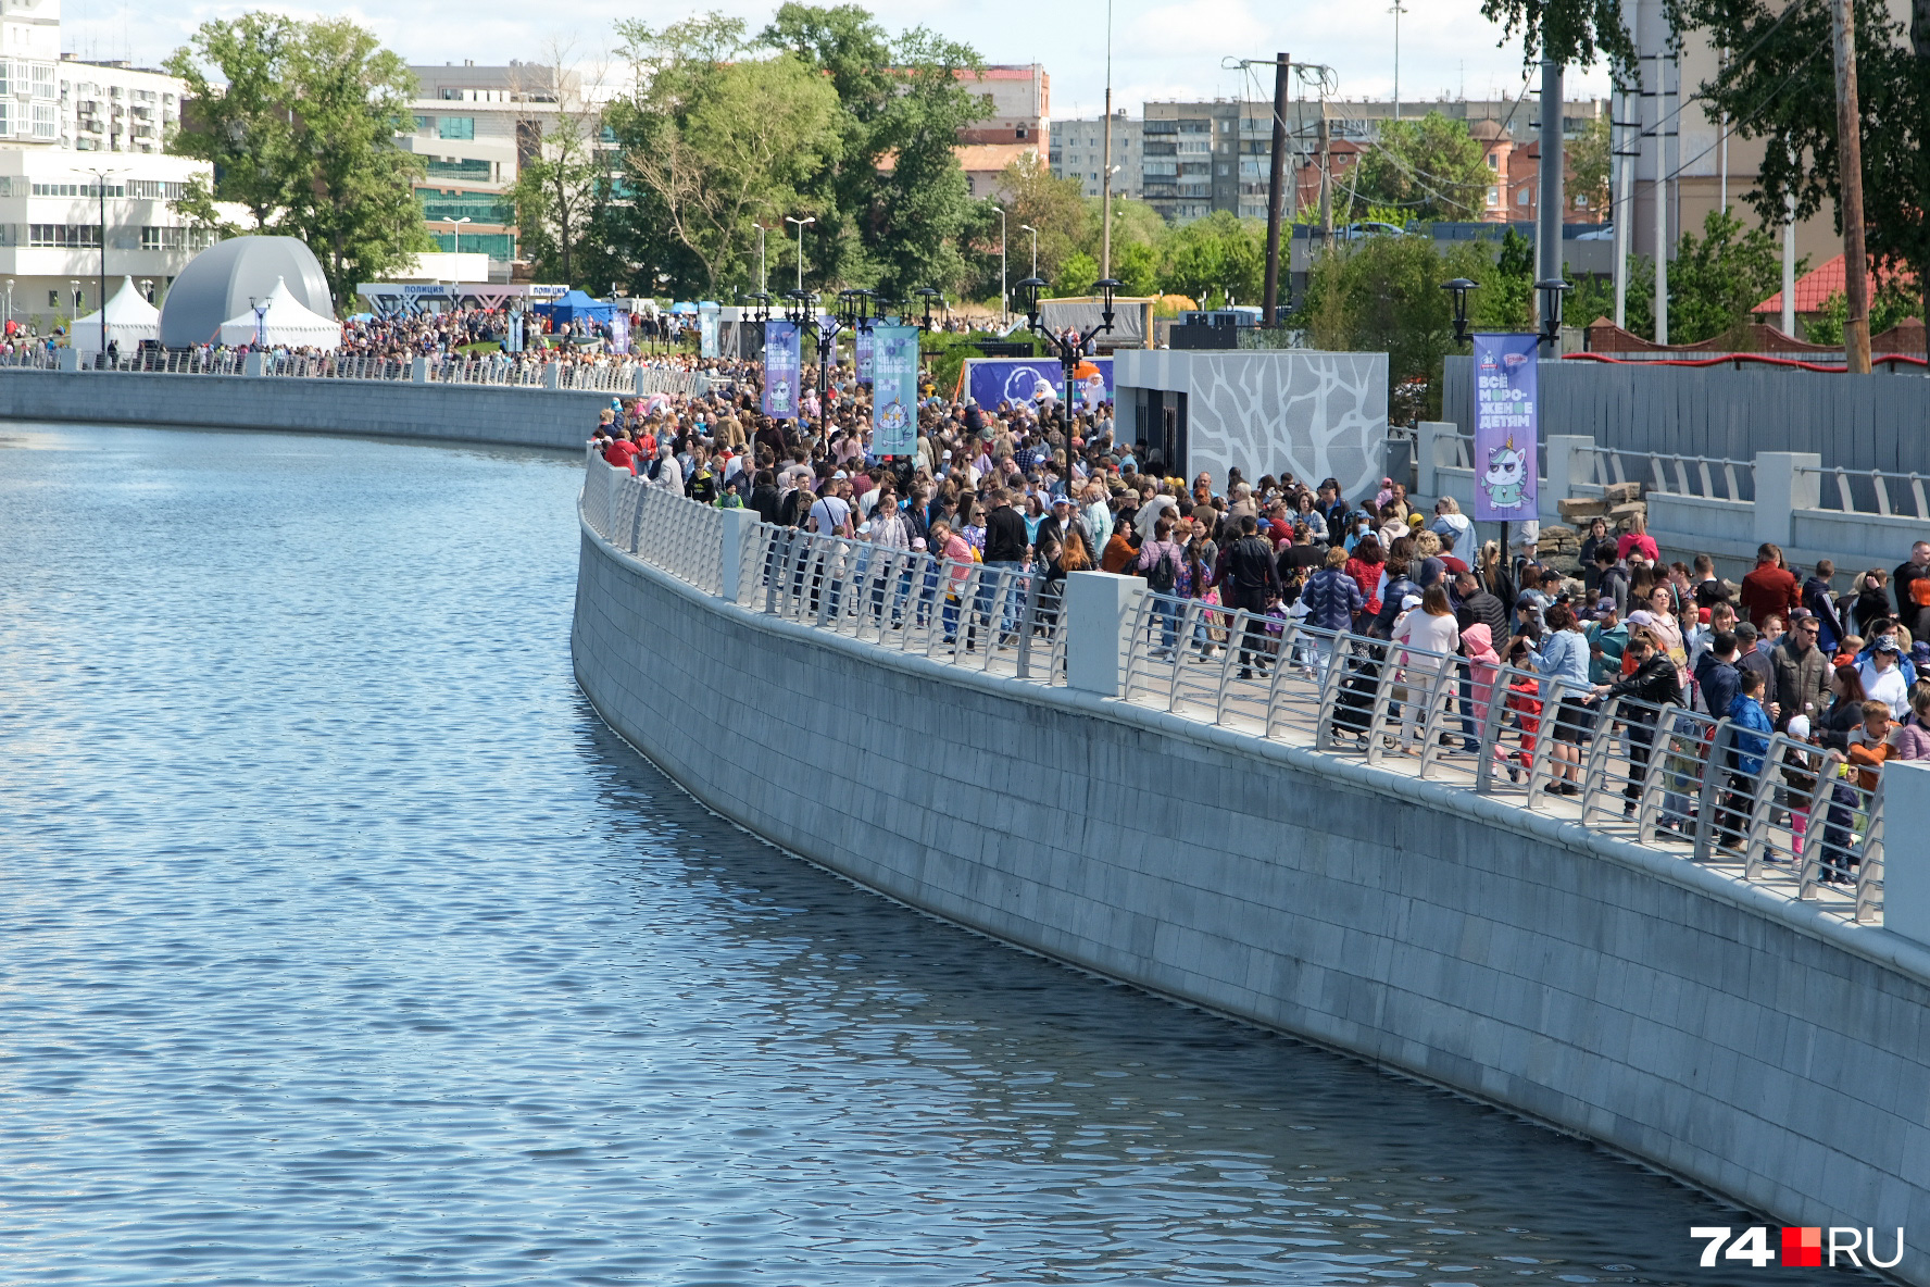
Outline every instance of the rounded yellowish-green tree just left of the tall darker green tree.
<svg viewBox="0 0 1930 1287">
<path fill-rule="evenodd" d="M 693 17 L 662 31 L 618 23 L 637 73 L 614 104 L 625 189 L 650 195 L 693 291 L 755 288 L 757 224 L 780 228 L 840 147 L 832 85 L 793 54 L 747 58 L 743 23 Z"/>
</svg>

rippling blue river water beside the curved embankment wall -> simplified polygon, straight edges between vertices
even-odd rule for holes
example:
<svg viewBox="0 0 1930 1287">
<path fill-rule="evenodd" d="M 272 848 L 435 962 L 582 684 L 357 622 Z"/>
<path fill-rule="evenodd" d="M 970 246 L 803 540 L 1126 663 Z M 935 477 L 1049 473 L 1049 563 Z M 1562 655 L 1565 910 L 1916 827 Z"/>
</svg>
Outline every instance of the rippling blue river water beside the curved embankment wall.
<svg viewBox="0 0 1930 1287">
<path fill-rule="evenodd" d="M 577 486 L 0 426 L 0 1281 L 1760 1281 L 1681 1185 L 695 807 L 571 679 Z"/>
</svg>

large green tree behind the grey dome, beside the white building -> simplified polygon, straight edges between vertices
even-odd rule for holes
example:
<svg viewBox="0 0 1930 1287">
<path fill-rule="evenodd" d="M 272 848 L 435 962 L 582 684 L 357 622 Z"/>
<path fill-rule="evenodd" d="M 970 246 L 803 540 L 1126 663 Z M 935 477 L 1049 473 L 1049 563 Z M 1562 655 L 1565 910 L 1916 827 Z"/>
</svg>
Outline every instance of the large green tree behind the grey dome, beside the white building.
<svg viewBox="0 0 1930 1287">
<path fill-rule="evenodd" d="M 415 199 L 423 162 L 396 143 L 415 127 L 415 77 L 374 35 L 245 14 L 205 23 L 168 66 L 199 100 L 172 147 L 216 164 L 212 189 L 181 201 L 191 218 L 245 205 L 255 230 L 309 243 L 338 301 L 434 247 Z"/>
</svg>

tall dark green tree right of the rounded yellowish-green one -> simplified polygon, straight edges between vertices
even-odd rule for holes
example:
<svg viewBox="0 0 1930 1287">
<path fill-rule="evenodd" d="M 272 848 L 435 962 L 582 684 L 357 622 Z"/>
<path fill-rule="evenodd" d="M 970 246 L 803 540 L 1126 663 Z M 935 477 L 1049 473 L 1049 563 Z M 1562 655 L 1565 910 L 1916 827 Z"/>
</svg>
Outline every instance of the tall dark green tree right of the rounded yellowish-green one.
<svg viewBox="0 0 1930 1287">
<path fill-rule="evenodd" d="M 803 185 L 818 218 L 807 276 L 888 293 L 965 284 L 963 243 L 982 212 L 951 147 L 986 112 L 959 79 L 984 66 L 979 54 L 923 27 L 892 39 L 855 4 L 787 2 L 758 41 L 828 77 L 841 108 L 841 145 Z"/>
</svg>

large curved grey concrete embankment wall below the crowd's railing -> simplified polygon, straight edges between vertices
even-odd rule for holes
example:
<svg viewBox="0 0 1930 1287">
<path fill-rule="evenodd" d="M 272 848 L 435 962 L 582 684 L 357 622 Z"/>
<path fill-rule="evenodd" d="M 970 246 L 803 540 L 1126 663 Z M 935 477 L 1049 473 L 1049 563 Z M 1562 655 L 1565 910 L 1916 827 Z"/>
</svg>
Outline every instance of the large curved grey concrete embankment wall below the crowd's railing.
<svg viewBox="0 0 1930 1287">
<path fill-rule="evenodd" d="M 573 652 L 704 805 L 905 903 L 1785 1223 L 1930 1229 L 1930 953 L 1889 932 L 1473 793 L 762 617 L 587 527 Z M 1897 1272 L 1930 1283 L 1930 1258 Z"/>
</svg>

